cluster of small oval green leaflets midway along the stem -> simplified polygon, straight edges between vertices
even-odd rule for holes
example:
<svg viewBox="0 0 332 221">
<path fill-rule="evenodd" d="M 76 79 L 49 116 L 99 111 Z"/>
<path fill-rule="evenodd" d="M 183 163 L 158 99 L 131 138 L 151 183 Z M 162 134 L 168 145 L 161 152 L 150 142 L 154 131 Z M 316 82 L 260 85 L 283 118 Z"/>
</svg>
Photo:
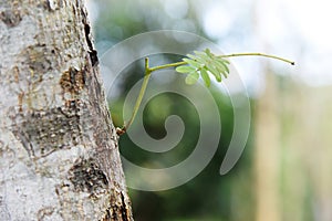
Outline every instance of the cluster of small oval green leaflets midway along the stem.
<svg viewBox="0 0 332 221">
<path fill-rule="evenodd" d="M 187 54 L 183 59 L 186 63 L 176 67 L 179 73 L 187 74 L 186 83 L 191 85 L 197 83 L 201 76 L 206 86 L 210 86 L 210 75 L 215 76 L 217 82 L 221 82 L 222 77 L 226 78 L 229 74 L 229 62 L 221 56 L 216 56 L 209 49 L 205 51 L 195 51 L 195 54 Z"/>
</svg>

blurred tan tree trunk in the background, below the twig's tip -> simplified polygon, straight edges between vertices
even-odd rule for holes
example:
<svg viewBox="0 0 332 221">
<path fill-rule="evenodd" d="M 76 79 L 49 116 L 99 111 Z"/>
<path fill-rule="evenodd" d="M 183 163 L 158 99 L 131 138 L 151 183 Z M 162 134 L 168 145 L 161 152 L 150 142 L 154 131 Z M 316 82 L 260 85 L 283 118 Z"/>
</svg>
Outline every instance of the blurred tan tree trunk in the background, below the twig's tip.
<svg viewBox="0 0 332 221">
<path fill-rule="evenodd" d="M 266 91 L 256 107 L 256 220 L 280 221 L 278 87 L 276 76 L 269 70 L 266 73 Z"/>
</svg>

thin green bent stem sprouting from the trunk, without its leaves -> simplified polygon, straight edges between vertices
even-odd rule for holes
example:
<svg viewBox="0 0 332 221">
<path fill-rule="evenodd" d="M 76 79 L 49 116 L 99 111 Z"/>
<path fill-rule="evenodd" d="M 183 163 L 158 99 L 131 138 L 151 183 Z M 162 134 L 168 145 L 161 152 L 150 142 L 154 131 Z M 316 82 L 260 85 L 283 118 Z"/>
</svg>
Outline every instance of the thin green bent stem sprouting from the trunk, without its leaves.
<svg viewBox="0 0 332 221">
<path fill-rule="evenodd" d="M 289 60 L 286 60 L 286 59 L 279 57 L 279 56 L 274 56 L 274 55 L 262 54 L 262 53 L 235 53 L 235 54 L 220 55 L 219 57 L 231 57 L 231 56 L 266 56 L 266 57 L 269 57 L 269 59 L 276 59 L 276 60 L 280 60 L 280 61 L 286 62 L 286 63 L 290 63 L 291 65 L 295 64 L 292 61 L 289 61 Z M 144 80 L 143 80 L 142 87 L 141 87 L 138 97 L 136 99 L 135 106 L 134 106 L 133 114 L 132 114 L 129 120 L 123 126 L 122 129 L 117 128 L 117 134 L 118 135 L 124 134 L 131 127 L 131 125 L 133 124 L 133 122 L 134 122 L 134 119 L 135 119 L 135 117 L 137 115 L 137 112 L 139 109 L 142 99 L 144 97 L 144 94 L 145 94 L 145 91 L 146 91 L 147 83 L 148 83 L 148 80 L 151 77 L 151 74 L 154 71 L 157 71 L 157 70 L 163 70 L 163 69 L 179 66 L 179 65 L 184 65 L 184 64 L 187 64 L 187 62 L 175 62 L 175 63 L 170 63 L 170 64 L 164 64 L 164 65 L 159 65 L 159 66 L 155 66 L 155 67 L 149 67 L 148 66 L 148 57 L 145 59 Z"/>
</svg>

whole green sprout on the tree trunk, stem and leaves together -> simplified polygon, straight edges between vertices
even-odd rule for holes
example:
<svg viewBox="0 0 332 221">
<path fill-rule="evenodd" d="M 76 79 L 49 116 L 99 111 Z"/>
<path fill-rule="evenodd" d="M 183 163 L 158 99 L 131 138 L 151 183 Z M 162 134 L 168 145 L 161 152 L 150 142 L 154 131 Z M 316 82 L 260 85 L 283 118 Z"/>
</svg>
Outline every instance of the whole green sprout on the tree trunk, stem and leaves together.
<svg viewBox="0 0 332 221">
<path fill-rule="evenodd" d="M 148 57 L 145 59 L 145 73 L 144 73 L 144 80 L 143 84 L 138 94 L 138 97 L 136 99 L 133 114 L 129 118 L 129 120 L 124 124 L 122 128 L 116 128 L 117 135 L 123 135 L 126 133 L 126 130 L 129 128 L 132 123 L 135 119 L 135 116 L 138 112 L 138 108 L 141 106 L 143 96 L 146 91 L 146 86 L 148 83 L 148 80 L 151 77 L 151 74 L 154 71 L 168 69 L 168 67 L 176 67 L 175 71 L 178 73 L 187 74 L 186 76 L 186 84 L 195 84 L 199 80 L 199 76 L 201 76 L 205 85 L 207 87 L 210 86 L 211 80 L 210 76 L 215 76 L 217 82 L 221 82 L 222 78 L 227 78 L 229 74 L 229 62 L 226 60 L 227 57 L 232 56 L 266 56 L 269 59 L 276 59 L 280 60 L 282 62 L 290 63 L 294 65 L 294 62 L 274 56 L 269 54 L 262 54 L 262 53 L 236 53 L 236 54 L 225 54 L 225 55 L 215 55 L 210 52 L 209 49 L 206 49 L 205 51 L 195 51 L 195 54 L 187 54 L 187 57 L 183 59 L 181 62 L 175 62 L 170 64 L 164 64 L 160 66 L 149 67 L 148 64 Z"/>
</svg>

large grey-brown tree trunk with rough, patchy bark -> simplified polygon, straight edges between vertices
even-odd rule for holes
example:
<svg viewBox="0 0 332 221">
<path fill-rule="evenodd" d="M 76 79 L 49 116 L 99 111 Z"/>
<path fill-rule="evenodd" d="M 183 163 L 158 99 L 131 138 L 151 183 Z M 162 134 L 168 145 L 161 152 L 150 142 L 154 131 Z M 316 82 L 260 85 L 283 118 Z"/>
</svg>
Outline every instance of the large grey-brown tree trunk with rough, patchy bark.
<svg viewBox="0 0 332 221">
<path fill-rule="evenodd" d="M 133 220 L 81 0 L 0 1 L 0 220 Z"/>
</svg>

